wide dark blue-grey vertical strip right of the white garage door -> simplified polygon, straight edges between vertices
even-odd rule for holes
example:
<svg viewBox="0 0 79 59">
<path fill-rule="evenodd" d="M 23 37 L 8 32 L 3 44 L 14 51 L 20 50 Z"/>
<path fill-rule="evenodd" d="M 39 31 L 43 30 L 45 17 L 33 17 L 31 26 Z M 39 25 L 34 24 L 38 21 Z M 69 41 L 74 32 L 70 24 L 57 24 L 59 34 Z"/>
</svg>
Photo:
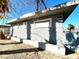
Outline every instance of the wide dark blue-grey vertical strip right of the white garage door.
<svg viewBox="0 0 79 59">
<path fill-rule="evenodd" d="M 56 21 L 54 19 L 50 20 L 50 27 L 49 27 L 49 43 L 56 45 Z"/>
</svg>

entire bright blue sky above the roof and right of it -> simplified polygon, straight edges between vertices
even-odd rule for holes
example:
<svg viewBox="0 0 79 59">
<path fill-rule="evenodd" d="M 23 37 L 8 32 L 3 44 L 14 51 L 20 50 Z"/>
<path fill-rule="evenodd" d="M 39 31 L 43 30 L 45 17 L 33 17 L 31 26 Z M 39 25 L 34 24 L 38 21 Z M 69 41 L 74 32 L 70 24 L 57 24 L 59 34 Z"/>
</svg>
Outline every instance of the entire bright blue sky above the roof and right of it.
<svg viewBox="0 0 79 59">
<path fill-rule="evenodd" d="M 28 2 L 25 1 L 26 0 L 10 0 L 10 4 L 11 4 L 10 7 L 12 10 L 10 9 L 10 12 L 8 13 L 8 19 L 5 19 L 4 21 L 0 20 L 0 24 L 5 23 L 6 21 L 10 21 L 11 19 L 14 18 L 19 18 L 23 14 L 34 12 L 35 8 L 34 8 L 33 0 L 27 0 Z M 45 0 L 45 3 L 47 7 L 50 8 L 57 4 L 68 2 L 68 1 L 70 0 Z M 26 5 L 24 6 L 22 2 L 25 2 Z M 19 5 L 21 7 L 19 7 Z M 13 9 L 12 7 L 14 7 L 15 9 Z M 43 7 L 41 8 L 43 9 Z M 75 26 L 78 26 L 79 25 L 78 19 L 79 19 L 79 6 L 64 22 L 64 28 L 66 28 L 68 24 L 73 24 Z"/>
</svg>

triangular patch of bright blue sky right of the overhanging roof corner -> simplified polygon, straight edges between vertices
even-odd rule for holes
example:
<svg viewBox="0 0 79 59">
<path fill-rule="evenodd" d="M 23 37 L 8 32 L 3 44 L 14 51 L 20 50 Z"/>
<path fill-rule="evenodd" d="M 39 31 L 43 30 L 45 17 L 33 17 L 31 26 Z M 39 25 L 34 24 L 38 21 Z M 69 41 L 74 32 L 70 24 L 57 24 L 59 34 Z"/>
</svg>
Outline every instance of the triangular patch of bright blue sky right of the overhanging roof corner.
<svg viewBox="0 0 79 59">
<path fill-rule="evenodd" d="M 76 27 L 79 26 L 79 5 L 64 22 L 64 28 L 67 28 L 68 24 L 73 24 Z"/>
</svg>

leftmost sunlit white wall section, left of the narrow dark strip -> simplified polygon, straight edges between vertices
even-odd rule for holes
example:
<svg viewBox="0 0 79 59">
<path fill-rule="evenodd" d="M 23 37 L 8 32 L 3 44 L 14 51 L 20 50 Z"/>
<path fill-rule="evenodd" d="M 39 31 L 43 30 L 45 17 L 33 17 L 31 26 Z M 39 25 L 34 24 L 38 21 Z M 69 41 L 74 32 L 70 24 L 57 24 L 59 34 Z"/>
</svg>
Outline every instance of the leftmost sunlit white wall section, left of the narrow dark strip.
<svg viewBox="0 0 79 59">
<path fill-rule="evenodd" d="M 26 23 L 22 23 L 22 24 L 13 26 L 13 36 L 21 38 L 21 39 L 27 39 Z"/>
</svg>

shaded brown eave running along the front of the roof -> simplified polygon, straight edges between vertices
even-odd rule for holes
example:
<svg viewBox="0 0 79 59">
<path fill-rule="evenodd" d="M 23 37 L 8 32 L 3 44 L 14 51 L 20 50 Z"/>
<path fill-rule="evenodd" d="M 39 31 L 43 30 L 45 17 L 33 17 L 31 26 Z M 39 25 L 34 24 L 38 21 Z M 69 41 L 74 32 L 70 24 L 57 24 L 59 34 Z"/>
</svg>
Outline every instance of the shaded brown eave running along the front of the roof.
<svg viewBox="0 0 79 59">
<path fill-rule="evenodd" d="M 27 20 L 43 19 L 43 18 L 47 18 L 47 16 L 50 17 L 51 15 L 57 15 L 57 14 L 67 14 L 67 13 L 70 14 L 77 5 L 78 4 L 64 6 L 64 7 L 57 7 L 56 9 L 47 10 L 46 12 L 43 13 L 34 14 L 29 17 L 19 18 L 19 20 L 17 19 L 16 21 L 10 22 L 8 24 L 20 23 Z"/>
</svg>

